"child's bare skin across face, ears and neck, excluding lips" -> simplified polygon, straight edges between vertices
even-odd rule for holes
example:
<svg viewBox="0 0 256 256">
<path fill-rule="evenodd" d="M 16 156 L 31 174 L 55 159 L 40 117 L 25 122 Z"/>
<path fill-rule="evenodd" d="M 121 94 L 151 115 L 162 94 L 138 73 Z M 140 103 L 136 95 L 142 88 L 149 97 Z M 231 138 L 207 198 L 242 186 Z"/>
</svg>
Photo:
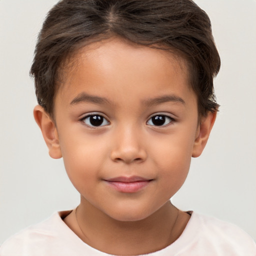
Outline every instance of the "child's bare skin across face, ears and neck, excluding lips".
<svg viewBox="0 0 256 256">
<path fill-rule="evenodd" d="M 191 156 L 201 154 L 216 116 L 209 113 L 198 125 L 185 62 L 166 51 L 111 38 L 76 52 L 62 80 L 55 120 L 40 106 L 34 117 L 50 156 L 63 157 L 80 193 L 82 232 L 74 211 L 64 222 L 84 242 L 109 254 L 145 254 L 171 244 L 189 215 L 169 198 L 183 184 Z M 92 102 L 88 95 L 107 102 Z M 105 118 L 102 126 L 84 119 L 91 113 Z M 151 117 L 157 114 L 170 118 L 156 126 Z M 135 192 L 117 191 L 105 181 L 133 175 L 150 181 Z"/>
</svg>

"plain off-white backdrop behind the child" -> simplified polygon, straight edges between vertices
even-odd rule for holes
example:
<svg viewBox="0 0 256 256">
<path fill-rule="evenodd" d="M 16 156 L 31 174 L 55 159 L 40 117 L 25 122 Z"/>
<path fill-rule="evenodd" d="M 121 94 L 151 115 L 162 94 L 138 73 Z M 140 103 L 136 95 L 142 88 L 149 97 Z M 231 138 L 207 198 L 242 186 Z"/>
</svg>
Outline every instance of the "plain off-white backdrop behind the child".
<svg viewBox="0 0 256 256">
<path fill-rule="evenodd" d="M 28 75 L 37 33 L 56 0 L 0 0 L 0 244 L 79 194 L 62 159 L 48 156 L 33 120 Z M 221 105 L 202 155 L 172 202 L 235 223 L 256 239 L 256 1 L 196 0 L 212 21 L 222 65 Z"/>
</svg>

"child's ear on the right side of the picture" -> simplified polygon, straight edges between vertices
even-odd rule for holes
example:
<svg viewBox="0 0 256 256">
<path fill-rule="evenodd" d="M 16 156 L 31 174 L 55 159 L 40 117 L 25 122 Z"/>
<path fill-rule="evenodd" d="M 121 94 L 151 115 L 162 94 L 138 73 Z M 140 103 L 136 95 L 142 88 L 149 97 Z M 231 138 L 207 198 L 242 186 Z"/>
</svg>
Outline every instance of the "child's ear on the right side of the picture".
<svg viewBox="0 0 256 256">
<path fill-rule="evenodd" d="M 192 150 L 192 157 L 198 157 L 202 153 L 202 150 L 208 140 L 211 128 L 215 122 L 216 114 L 216 111 L 214 113 L 209 111 L 198 125 Z"/>
</svg>

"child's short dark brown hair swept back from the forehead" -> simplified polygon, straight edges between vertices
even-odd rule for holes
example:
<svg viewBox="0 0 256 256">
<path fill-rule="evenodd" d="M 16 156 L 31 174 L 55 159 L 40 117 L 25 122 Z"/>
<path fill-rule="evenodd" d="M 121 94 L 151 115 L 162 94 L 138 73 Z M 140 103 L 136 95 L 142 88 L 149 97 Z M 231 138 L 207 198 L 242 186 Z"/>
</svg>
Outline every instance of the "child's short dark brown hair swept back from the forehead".
<svg viewBox="0 0 256 256">
<path fill-rule="evenodd" d="M 79 47 L 111 36 L 176 51 L 187 62 L 199 116 L 218 109 L 213 77 L 220 58 L 210 19 L 192 0 L 61 0 L 44 20 L 30 69 L 47 113 L 53 116 L 60 64 Z"/>
</svg>

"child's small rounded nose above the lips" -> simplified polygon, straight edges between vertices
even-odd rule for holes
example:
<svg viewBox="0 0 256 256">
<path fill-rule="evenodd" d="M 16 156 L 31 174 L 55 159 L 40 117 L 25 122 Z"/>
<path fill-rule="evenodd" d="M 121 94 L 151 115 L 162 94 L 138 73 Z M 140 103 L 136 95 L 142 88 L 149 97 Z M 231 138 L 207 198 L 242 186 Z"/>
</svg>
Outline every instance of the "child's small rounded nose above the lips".
<svg viewBox="0 0 256 256">
<path fill-rule="evenodd" d="M 143 136 L 134 127 L 123 127 L 114 134 L 111 159 L 115 162 L 143 162 L 147 153 L 144 148 Z"/>
</svg>

